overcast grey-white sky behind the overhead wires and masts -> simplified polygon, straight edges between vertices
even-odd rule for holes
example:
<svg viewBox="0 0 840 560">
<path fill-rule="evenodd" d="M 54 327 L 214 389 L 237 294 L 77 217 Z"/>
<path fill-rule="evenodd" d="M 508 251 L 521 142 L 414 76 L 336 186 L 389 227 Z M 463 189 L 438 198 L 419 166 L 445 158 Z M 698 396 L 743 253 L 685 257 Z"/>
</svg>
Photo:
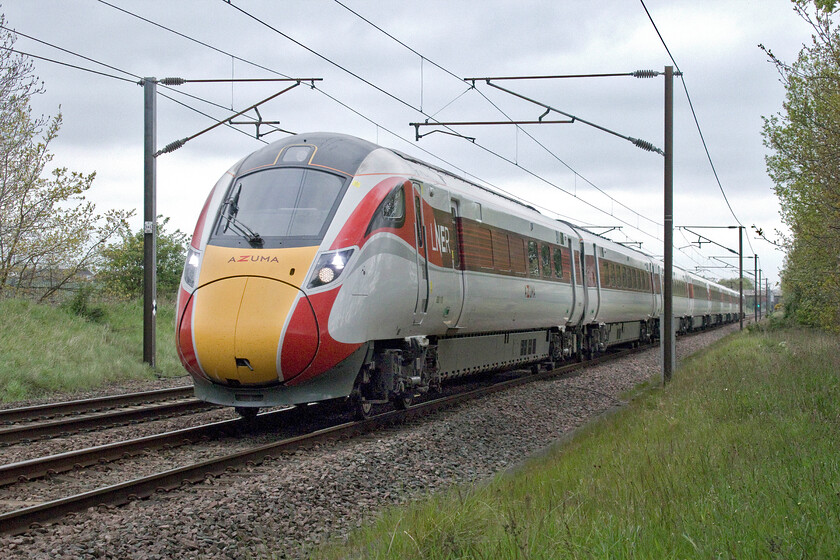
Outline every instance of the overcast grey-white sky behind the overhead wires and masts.
<svg viewBox="0 0 840 560">
<path fill-rule="evenodd" d="M 409 126 L 427 117 L 535 120 L 543 113 L 483 81 L 470 89 L 461 78 L 661 71 L 671 60 L 637 0 L 342 0 L 392 37 L 334 0 L 233 0 L 233 6 L 223 0 L 108 1 L 111 5 L 99 0 L 6 0 L 2 11 L 16 31 L 118 70 L 23 36 L 17 49 L 132 81 L 134 76 L 323 78 L 317 89 L 300 86 L 261 106 L 262 117 L 294 132 L 342 132 L 411 153 L 516 194 L 549 216 L 589 226 L 621 226 L 608 235 L 617 241 L 641 241 L 647 252 L 662 254 L 660 155 L 579 122 L 528 126 L 523 131 L 513 126 L 454 127 L 475 137 L 475 144 L 439 133 L 417 142 Z M 763 43 L 780 58 L 792 60 L 810 40 L 810 29 L 794 14 L 789 0 L 646 4 L 685 74 L 734 211 L 733 216 L 706 159 L 682 83 L 675 81 L 674 223 L 728 226 L 737 219 L 772 236 L 782 225 L 765 171 L 761 128 L 762 116 L 781 109 L 784 89 L 757 45 Z M 35 67 L 46 86 L 46 93 L 34 102 L 35 111 L 55 115 L 60 107 L 64 117 L 52 146 L 54 163 L 96 171 L 88 198 L 101 210 L 135 208 L 133 225 L 139 228 L 142 89 L 130 81 L 47 61 L 36 60 Z M 497 83 L 624 136 L 663 145 L 662 77 Z M 158 147 L 204 129 L 213 119 L 230 117 L 231 108 L 244 109 L 283 87 L 271 82 L 161 88 L 161 94 L 209 117 L 159 96 Z M 254 138 L 254 126 L 239 128 L 220 127 L 158 158 L 158 212 L 170 217 L 174 227 L 191 234 L 218 177 L 263 145 Z M 283 136 L 275 132 L 265 140 Z M 735 230 L 696 231 L 737 250 Z M 750 238 L 762 269 L 775 283 L 782 254 L 752 232 Z M 720 265 L 710 257 L 729 254 L 710 244 L 693 248 L 697 236 L 688 232 L 675 232 L 674 240 L 681 248 L 675 260 L 685 268 Z M 745 246 L 750 252 L 746 240 Z M 745 268 L 751 270 L 752 261 L 746 261 Z M 734 277 L 737 269 L 709 269 L 705 275 Z"/>
</svg>

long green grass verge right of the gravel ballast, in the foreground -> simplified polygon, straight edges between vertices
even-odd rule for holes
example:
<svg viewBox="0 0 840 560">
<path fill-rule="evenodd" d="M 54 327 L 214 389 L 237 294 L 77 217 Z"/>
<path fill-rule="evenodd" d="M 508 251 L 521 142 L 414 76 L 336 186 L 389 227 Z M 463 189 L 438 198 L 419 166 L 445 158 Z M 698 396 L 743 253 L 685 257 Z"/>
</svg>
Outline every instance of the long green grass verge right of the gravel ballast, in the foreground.
<svg viewBox="0 0 840 560">
<path fill-rule="evenodd" d="M 511 475 L 319 558 L 840 558 L 840 340 L 727 337 Z"/>
</svg>

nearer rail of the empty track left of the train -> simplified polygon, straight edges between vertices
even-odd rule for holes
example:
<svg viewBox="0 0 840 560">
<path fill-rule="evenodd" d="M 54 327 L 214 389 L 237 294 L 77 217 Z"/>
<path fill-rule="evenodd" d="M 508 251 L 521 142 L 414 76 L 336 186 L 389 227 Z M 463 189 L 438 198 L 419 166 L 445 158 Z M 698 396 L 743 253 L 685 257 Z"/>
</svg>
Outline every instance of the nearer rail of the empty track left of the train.
<svg viewBox="0 0 840 560">
<path fill-rule="evenodd" d="M 193 398 L 175 403 L 153 404 L 144 406 L 143 408 L 112 410 L 79 417 L 49 420 L 47 422 L 21 424 L 12 426 L 11 428 L 0 429 L 0 444 L 10 445 L 47 436 L 71 434 L 93 428 L 113 427 L 118 424 L 149 420 L 150 418 L 159 416 L 211 410 L 213 408 L 218 408 L 218 405 L 209 404 Z"/>
</svg>

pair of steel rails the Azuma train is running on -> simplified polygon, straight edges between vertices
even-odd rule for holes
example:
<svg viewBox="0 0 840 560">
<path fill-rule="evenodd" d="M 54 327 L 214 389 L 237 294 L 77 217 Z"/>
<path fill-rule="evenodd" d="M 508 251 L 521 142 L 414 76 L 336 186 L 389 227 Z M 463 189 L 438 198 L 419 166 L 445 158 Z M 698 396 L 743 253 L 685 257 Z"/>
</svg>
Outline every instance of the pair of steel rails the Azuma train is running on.
<svg viewBox="0 0 840 560">
<path fill-rule="evenodd" d="M 522 375 L 520 377 L 501 381 L 489 386 L 428 400 L 426 402 L 416 404 L 406 410 L 393 410 L 375 415 L 366 420 L 343 422 L 338 425 L 315 430 L 304 435 L 289 437 L 268 444 L 257 445 L 246 450 L 201 461 L 192 465 L 158 472 L 149 476 L 139 477 L 119 484 L 105 486 L 74 496 L 60 498 L 43 504 L 0 514 L 0 533 L 12 535 L 21 534 L 30 528 L 56 521 L 67 514 L 83 511 L 89 507 L 122 505 L 131 500 L 146 498 L 156 492 L 178 488 L 185 482 L 201 482 L 208 477 L 221 475 L 227 469 L 235 469 L 246 464 L 259 464 L 267 458 L 279 457 L 300 448 L 373 432 L 381 429 L 383 426 L 399 424 L 421 418 L 469 400 L 485 397 L 491 393 L 504 391 L 524 383 L 567 374 L 574 370 L 595 365 L 597 363 L 615 360 L 645 348 L 647 347 L 622 350 L 592 360 L 574 362 L 550 371 L 532 375 Z M 290 411 L 279 410 L 265 412 L 257 417 L 257 421 L 260 424 L 269 423 L 274 418 L 277 418 L 278 415 L 288 412 Z M 6 465 L 0 468 L 0 485 L 11 484 L 17 480 L 31 479 L 36 476 L 44 476 L 46 474 L 50 474 L 51 472 L 60 472 L 62 470 L 66 471 L 71 468 L 78 468 L 79 466 L 95 464 L 101 460 L 113 460 L 126 455 L 130 456 L 151 447 L 177 445 L 201 439 L 202 437 L 212 437 L 213 435 L 225 433 L 229 430 L 236 430 L 237 427 L 241 426 L 243 426 L 242 419 L 229 420 L 205 426 L 198 426 L 196 428 L 178 430 L 168 434 L 161 434 L 160 436 L 149 436 L 146 438 L 131 440 L 129 442 L 109 444 L 102 446 L 101 448 L 91 448 L 88 450 L 69 452 L 44 459 L 33 459 L 30 461 Z"/>
</svg>

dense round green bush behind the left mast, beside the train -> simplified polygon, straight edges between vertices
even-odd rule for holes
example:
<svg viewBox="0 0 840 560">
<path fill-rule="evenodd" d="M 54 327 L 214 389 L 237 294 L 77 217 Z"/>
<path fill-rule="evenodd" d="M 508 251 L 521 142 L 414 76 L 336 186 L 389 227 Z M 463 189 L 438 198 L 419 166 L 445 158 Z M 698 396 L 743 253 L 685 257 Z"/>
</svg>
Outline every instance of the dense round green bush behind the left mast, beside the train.
<svg viewBox="0 0 840 560">
<path fill-rule="evenodd" d="M 168 222 L 169 218 L 158 216 L 157 289 L 161 296 L 174 297 L 181 283 L 188 238 L 178 229 L 167 233 Z M 143 294 L 143 230 L 131 233 L 124 228 L 120 235 L 119 242 L 102 249 L 97 278 L 111 295 L 137 297 Z"/>
</svg>

